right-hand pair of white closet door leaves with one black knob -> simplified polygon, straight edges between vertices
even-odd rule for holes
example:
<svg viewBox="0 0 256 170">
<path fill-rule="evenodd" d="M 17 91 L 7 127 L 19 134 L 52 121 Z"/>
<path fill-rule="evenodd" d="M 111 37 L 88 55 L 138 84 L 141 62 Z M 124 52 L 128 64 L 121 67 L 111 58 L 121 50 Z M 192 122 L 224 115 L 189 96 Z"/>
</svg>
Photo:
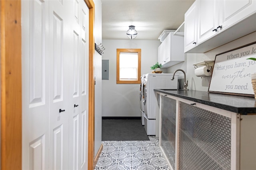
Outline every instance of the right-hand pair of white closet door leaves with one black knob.
<svg viewBox="0 0 256 170">
<path fill-rule="evenodd" d="M 70 169 L 88 167 L 88 32 L 89 9 L 83 0 L 73 2 L 73 52 L 70 63 Z"/>
</svg>

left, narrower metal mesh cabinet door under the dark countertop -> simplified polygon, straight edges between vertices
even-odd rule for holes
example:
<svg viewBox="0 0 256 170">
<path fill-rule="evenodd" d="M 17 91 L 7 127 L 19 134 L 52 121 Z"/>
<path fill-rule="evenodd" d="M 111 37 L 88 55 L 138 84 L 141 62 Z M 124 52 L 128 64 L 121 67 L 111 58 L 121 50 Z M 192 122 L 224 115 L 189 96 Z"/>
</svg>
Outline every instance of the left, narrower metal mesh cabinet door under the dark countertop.
<svg viewBox="0 0 256 170">
<path fill-rule="evenodd" d="M 161 125 L 160 147 L 175 169 L 176 100 L 166 96 L 162 96 Z"/>
</svg>

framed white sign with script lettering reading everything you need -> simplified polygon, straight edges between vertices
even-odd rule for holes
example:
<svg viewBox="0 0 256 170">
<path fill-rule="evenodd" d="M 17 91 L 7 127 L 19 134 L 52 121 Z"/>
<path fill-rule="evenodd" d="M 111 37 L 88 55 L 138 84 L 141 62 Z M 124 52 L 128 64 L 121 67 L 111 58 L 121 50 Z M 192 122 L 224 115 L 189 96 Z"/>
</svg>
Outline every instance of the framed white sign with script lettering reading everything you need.
<svg viewBox="0 0 256 170">
<path fill-rule="evenodd" d="M 256 42 L 216 55 L 208 92 L 254 96 L 256 61 L 248 58 L 256 58 Z"/>
</svg>

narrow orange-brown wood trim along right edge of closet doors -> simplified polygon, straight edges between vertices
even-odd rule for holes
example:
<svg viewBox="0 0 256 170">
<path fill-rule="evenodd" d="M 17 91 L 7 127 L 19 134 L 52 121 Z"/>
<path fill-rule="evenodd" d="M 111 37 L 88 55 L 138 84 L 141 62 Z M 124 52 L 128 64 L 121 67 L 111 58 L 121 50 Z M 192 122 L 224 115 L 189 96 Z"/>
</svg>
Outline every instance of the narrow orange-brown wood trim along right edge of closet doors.
<svg viewBox="0 0 256 170">
<path fill-rule="evenodd" d="M 94 2 L 84 0 L 89 8 L 89 108 L 88 108 L 88 170 L 94 169 Z"/>
</svg>

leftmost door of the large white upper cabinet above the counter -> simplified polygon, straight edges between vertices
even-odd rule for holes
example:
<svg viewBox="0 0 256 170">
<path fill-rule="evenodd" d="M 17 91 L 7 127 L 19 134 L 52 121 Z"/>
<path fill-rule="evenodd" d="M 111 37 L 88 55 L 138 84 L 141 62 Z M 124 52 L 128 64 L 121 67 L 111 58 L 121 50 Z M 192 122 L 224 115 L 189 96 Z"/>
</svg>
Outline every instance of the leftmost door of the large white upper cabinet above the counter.
<svg viewBox="0 0 256 170">
<path fill-rule="evenodd" d="M 196 46 L 196 32 L 197 32 L 197 2 L 188 9 L 185 13 L 184 25 L 184 52 Z"/>
</svg>

